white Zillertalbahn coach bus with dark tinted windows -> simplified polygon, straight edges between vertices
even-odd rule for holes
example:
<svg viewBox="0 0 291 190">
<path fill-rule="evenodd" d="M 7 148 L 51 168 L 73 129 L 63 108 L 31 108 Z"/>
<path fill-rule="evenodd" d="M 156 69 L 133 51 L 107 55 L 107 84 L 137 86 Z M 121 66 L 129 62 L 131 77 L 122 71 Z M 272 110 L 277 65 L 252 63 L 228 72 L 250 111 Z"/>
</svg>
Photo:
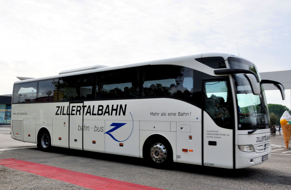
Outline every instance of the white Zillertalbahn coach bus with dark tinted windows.
<svg viewBox="0 0 291 190">
<path fill-rule="evenodd" d="M 254 166 L 271 156 L 262 83 L 285 98 L 253 63 L 222 53 L 61 71 L 14 83 L 11 137 L 155 167 Z"/>
</svg>

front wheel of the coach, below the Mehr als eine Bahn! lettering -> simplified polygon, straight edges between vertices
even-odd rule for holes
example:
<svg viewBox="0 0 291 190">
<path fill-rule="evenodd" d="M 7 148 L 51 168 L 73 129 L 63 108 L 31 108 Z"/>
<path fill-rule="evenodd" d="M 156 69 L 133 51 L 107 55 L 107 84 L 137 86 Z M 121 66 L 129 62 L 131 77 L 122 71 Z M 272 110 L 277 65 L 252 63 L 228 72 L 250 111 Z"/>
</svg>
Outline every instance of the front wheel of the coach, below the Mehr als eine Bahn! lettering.
<svg viewBox="0 0 291 190">
<path fill-rule="evenodd" d="M 173 162 L 172 147 L 166 138 L 155 135 L 145 142 L 143 158 L 153 168 L 167 169 Z"/>
</svg>

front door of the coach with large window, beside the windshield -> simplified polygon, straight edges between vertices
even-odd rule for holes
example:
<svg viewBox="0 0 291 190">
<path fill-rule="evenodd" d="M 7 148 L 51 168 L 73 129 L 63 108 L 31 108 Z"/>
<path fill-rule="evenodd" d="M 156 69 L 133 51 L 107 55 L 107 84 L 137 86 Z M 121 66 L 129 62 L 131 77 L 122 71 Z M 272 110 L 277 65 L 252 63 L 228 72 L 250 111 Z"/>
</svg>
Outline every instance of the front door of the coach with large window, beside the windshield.
<svg viewBox="0 0 291 190">
<path fill-rule="evenodd" d="M 234 115 L 228 78 L 204 81 L 203 165 L 234 167 Z"/>
</svg>

